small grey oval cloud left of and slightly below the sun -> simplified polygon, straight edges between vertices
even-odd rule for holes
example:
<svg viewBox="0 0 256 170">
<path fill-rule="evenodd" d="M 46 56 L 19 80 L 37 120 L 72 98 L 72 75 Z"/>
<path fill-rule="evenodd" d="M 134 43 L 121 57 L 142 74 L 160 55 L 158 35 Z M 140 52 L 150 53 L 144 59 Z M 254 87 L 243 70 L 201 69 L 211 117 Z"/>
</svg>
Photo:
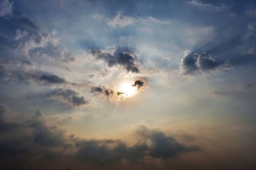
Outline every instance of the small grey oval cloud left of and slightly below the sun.
<svg viewBox="0 0 256 170">
<path fill-rule="evenodd" d="M 84 98 L 83 94 L 72 89 L 54 89 L 47 93 L 47 96 L 51 97 L 61 103 L 66 103 L 70 106 L 82 106 L 89 102 Z"/>
</svg>

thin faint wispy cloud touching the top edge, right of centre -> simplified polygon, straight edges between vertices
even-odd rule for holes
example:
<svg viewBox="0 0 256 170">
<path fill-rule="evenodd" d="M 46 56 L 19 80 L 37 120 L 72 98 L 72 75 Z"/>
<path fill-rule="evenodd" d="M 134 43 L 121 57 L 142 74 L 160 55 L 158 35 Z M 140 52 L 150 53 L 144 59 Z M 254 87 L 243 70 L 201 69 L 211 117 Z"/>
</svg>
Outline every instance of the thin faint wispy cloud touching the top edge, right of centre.
<svg viewBox="0 0 256 170">
<path fill-rule="evenodd" d="M 196 8 L 199 8 L 205 11 L 211 11 L 211 12 L 220 12 L 220 11 L 230 10 L 230 8 L 228 6 L 225 6 L 224 4 L 221 4 L 220 6 L 215 6 L 209 3 L 201 3 L 200 1 L 196 1 L 196 0 L 188 1 L 188 4 L 191 6 L 195 6 Z"/>
</svg>

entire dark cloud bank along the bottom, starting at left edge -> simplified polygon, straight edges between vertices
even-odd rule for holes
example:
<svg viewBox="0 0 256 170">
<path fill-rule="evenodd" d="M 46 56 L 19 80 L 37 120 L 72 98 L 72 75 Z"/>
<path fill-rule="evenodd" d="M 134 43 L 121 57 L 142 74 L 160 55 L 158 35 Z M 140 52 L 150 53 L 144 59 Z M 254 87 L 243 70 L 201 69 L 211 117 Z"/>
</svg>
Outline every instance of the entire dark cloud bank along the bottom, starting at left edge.
<svg viewBox="0 0 256 170">
<path fill-rule="evenodd" d="M 10 135 L 12 132 L 19 134 Z M 28 122 L 15 127 L 15 131 L 6 129 L 4 134 L 0 134 L 0 155 L 12 153 L 26 159 L 44 159 L 47 155 L 54 154 L 56 158 L 64 156 L 66 159 L 79 159 L 105 166 L 124 159 L 131 162 L 139 162 L 145 157 L 168 159 L 179 153 L 198 151 L 197 146 L 184 146 L 172 136 L 143 125 L 133 135 L 133 138 L 138 139 L 133 145 L 127 145 L 119 139 L 81 139 L 74 135 L 68 137 L 63 129 L 51 122 L 50 116 L 38 110 Z M 72 152 L 67 152 L 67 149 Z"/>
</svg>

